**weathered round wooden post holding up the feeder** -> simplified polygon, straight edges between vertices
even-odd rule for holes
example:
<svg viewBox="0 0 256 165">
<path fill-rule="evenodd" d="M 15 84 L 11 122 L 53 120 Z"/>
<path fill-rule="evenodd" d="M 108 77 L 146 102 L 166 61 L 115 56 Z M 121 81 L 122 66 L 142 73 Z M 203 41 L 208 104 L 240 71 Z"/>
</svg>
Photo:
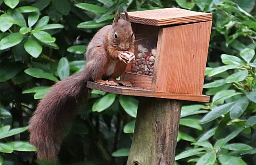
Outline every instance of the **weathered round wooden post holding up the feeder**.
<svg viewBox="0 0 256 165">
<path fill-rule="evenodd" d="M 173 165 L 180 112 L 177 100 L 141 97 L 126 165 Z"/>
</svg>

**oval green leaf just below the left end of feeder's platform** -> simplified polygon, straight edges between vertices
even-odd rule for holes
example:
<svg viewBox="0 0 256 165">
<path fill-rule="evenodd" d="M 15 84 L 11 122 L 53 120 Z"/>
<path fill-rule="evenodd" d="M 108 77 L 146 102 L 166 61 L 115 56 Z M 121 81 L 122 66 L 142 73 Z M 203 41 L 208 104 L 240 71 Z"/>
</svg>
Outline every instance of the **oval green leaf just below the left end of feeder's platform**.
<svg viewBox="0 0 256 165">
<path fill-rule="evenodd" d="M 92 111 L 101 112 L 109 108 L 114 103 L 115 99 L 116 99 L 116 94 L 114 93 L 109 93 L 104 95 L 102 98 L 94 102 L 92 106 Z"/>
</svg>

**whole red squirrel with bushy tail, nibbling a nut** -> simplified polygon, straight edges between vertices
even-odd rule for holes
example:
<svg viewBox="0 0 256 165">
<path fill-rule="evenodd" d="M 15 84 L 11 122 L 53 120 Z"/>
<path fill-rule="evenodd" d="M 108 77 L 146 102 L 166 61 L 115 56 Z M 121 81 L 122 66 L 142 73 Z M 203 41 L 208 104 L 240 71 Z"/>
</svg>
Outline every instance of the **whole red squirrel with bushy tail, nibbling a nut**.
<svg viewBox="0 0 256 165">
<path fill-rule="evenodd" d="M 135 37 L 125 9 L 124 13 L 126 20 L 118 20 L 116 12 L 113 24 L 94 35 L 87 47 L 84 71 L 54 84 L 39 102 L 29 121 L 30 143 L 36 146 L 38 159 L 57 159 L 65 129 L 87 99 L 87 81 L 132 86 L 131 82 L 116 80 L 124 72 L 126 63 L 135 58 Z"/>
</svg>

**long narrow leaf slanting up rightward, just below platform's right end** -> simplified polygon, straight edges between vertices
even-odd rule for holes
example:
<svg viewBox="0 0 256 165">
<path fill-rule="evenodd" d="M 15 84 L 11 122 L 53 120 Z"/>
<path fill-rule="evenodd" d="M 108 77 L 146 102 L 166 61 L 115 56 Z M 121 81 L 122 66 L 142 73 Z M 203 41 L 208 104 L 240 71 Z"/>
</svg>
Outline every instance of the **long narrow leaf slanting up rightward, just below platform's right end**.
<svg viewBox="0 0 256 165">
<path fill-rule="evenodd" d="M 211 110 L 208 114 L 206 114 L 202 118 L 201 124 L 210 122 L 222 115 L 225 115 L 226 113 L 228 113 L 230 111 L 230 109 L 233 105 L 234 105 L 234 103 L 227 103 L 227 104 L 223 104 L 221 106 L 214 108 L 213 110 Z"/>
</svg>

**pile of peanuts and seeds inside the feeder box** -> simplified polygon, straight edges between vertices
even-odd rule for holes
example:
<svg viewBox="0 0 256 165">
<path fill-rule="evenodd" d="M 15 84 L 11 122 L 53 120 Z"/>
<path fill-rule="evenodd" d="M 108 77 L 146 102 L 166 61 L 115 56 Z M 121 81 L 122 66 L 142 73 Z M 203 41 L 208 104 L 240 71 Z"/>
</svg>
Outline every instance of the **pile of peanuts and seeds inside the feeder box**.
<svg viewBox="0 0 256 165">
<path fill-rule="evenodd" d="M 157 48 L 152 48 L 150 51 L 144 48 L 143 45 L 138 45 L 138 55 L 136 60 L 132 64 L 132 72 L 147 75 L 152 77 L 155 65 L 155 57 L 157 54 Z"/>
</svg>

